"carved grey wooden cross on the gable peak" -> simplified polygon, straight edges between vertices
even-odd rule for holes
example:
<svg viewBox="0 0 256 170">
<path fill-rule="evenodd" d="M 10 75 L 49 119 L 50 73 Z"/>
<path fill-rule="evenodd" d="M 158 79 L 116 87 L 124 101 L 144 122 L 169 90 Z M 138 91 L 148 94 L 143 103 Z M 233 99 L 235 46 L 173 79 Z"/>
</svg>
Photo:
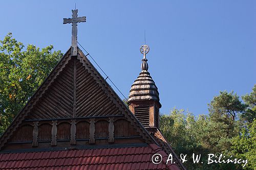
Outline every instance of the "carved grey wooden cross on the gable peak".
<svg viewBox="0 0 256 170">
<path fill-rule="evenodd" d="M 72 56 L 77 55 L 77 22 L 86 22 L 86 16 L 77 17 L 78 10 L 72 10 L 72 18 L 63 18 L 63 24 L 72 23 Z"/>
</svg>

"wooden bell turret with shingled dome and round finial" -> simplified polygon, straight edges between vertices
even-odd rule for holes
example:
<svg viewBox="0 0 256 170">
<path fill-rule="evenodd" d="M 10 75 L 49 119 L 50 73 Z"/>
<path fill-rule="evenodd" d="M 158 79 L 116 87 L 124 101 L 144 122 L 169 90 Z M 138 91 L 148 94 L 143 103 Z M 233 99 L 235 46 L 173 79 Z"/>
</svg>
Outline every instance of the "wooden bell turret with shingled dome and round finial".
<svg viewBox="0 0 256 170">
<path fill-rule="evenodd" d="M 147 71 L 146 54 L 149 51 L 150 47 L 148 45 L 140 47 L 140 53 L 143 54 L 141 72 L 132 84 L 127 103 L 130 110 L 145 128 L 159 129 L 159 109 L 161 104 L 157 86 L 150 76 L 150 72 Z"/>
</svg>

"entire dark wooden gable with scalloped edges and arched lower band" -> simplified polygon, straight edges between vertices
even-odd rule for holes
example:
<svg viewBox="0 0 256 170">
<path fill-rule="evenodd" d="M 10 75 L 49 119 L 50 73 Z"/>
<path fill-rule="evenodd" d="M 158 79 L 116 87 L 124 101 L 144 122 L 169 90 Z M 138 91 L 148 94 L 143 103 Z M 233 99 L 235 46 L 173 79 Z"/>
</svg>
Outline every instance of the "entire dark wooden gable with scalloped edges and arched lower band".
<svg viewBox="0 0 256 170">
<path fill-rule="evenodd" d="M 0 139 L 11 150 L 157 143 L 78 49 L 69 50 Z"/>
</svg>

